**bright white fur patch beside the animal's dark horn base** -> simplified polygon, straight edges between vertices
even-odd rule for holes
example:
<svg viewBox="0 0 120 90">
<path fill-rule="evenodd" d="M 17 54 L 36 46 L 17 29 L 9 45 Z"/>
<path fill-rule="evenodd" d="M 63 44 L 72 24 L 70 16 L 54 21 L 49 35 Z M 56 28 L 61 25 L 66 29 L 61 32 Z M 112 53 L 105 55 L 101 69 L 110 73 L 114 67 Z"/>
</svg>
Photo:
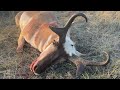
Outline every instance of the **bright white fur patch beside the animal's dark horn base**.
<svg viewBox="0 0 120 90">
<path fill-rule="evenodd" d="M 73 54 L 76 56 L 80 56 L 81 53 L 79 53 L 75 48 L 75 43 L 70 39 L 70 37 L 67 35 L 65 38 L 65 43 L 63 44 L 65 52 L 72 56 Z"/>
</svg>

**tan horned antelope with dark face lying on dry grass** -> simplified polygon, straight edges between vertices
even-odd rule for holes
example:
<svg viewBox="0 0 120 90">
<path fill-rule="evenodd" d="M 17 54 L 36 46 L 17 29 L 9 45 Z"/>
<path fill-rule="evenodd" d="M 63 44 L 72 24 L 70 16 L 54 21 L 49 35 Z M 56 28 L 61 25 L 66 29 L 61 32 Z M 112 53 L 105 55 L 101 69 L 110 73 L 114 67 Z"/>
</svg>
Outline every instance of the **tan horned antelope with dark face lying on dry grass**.
<svg viewBox="0 0 120 90">
<path fill-rule="evenodd" d="M 23 51 L 25 41 L 41 53 L 30 65 L 30 70 L 38 75 L 43 72 L 58 57 L 67 57 L 76 67 L 76 75 L 80 74 L 85 66 L 106 65 L 109 55 L 104 52 L 105 61 L 93 62 L 88 60 L 81 61 L 79 58 L 71 58 L 84 55 L 75 49 L 75 43 L 70 39 L 70 26 L 76 17 L 82 16 L 86 22 L 87 17 L 83 13 L 76 13 L 70 17 L 64 27 L 60 27 L 56 17 L 50 11 L 23 11 L 16 17 L 16 25 L 20 27 L 21 33 L 18 39 L 17 52 Z"/>
</svg>

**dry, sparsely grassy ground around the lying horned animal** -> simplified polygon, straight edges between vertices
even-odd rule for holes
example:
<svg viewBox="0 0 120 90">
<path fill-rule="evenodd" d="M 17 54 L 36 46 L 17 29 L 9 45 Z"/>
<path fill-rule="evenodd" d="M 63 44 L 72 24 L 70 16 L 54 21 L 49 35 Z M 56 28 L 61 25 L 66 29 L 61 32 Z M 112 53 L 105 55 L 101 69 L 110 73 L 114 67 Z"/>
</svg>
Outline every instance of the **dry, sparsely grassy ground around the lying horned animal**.
<svg viewBox="0 0 120 90">
<path fill-rule="evenodd" d="M 76 12 L 84 13 L 88 22 L 76 18 L 71 26 L 71 38 L 81 53 L 107 51 L 110 63 L 107 66 L 86 67 L 79 79 L 120 78 L 120 12 L 119 11 L 54 11 L 61 27 Z M 69 61 L 53 64 L 39 76 L 29 70 L 39 51 L 25 44 L 23 53 L 16 53 L 20 34 L 15 25 L 17 11 L 0 11 L 0 79 L 74 79 L 76 67 Z M 100 61 L 102 55 L 82 57 Z"/>
</svg>

